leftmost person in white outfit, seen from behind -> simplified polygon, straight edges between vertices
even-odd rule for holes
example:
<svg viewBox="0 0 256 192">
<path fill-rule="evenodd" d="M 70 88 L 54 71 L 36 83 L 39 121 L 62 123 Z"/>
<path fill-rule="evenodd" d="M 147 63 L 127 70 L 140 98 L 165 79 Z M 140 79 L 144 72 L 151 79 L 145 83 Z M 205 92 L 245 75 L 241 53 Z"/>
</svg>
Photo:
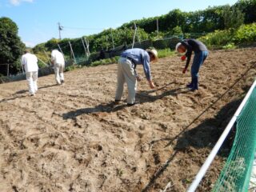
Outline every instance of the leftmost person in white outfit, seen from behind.
<svg viewBox="0 0 256 192">
<path fill-rule="evenodd" d="M 30 54 L 29 50 L 25 50 L 25 54 L 22 55 L 22 66 L 26 71 L 30 95 L 34 96 L 38 91 L 38 58 Z"/>
</svg>

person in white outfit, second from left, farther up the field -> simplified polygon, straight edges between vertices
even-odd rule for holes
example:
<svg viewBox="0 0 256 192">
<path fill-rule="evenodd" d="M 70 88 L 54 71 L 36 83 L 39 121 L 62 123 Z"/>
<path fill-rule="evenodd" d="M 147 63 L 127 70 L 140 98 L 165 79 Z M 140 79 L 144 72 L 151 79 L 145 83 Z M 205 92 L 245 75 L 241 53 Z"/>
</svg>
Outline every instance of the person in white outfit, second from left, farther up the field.
<svg viewBox="0 0 256 192">
<path fill-rule="evenodd" d="M 54 65 L 55 79 L 58 85 L 64 82 L 64 69 L 65 69 L 65 59 L 61 52 L 58 50 L 52 50 L 51 52 L 51 63 Z"/>
</svg>

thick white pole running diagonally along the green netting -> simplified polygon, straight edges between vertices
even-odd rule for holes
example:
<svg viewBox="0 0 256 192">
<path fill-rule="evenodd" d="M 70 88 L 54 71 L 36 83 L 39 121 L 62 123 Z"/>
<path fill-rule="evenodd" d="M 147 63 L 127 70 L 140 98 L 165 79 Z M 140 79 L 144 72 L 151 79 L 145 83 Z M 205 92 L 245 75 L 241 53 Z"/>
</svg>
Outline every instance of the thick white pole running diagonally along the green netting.
<svg viewBox="0 0 256 192">
<path fill-rule="evenodd" d="M 187 190 L 187 192 L 194 192 L 197 189 L 203 176 L 206 174 L 206 171 L 208 170 L 211 162 L 213 162 L 216 154 L 218 153 L 218 150 L 222 146 L 222 143 L 226 139 L 226 136 L 229 134 L 231 128 L 234 126 L 234 122 L 237 120 L 238 115 L 242 111 L 242 108 L 246 105 L 247 100 L 250 98 L 250 94 L 253 92 L 255 86 L 256 86 L 256 80 L 254 81 L 254 84 L 250 87 L 250 90 L 246 94 L 246 97 L 242 100 L 242 103 L 238 107 L 238 110 L 236 110 L 233 118 L 231 118 L 229 124 L 226 126 L 226 129 L 223 131 L 221 137 L 218 139 L 218 142 L 215 144 L 214 149 L 211 150 L 208 158 L 206 158 L 206 162 L 202 165 L 201 169 L 199 170 L 198 174 L 196 175 L 194 181 L 190 185 L 190 188 Z"/>
</svg>

